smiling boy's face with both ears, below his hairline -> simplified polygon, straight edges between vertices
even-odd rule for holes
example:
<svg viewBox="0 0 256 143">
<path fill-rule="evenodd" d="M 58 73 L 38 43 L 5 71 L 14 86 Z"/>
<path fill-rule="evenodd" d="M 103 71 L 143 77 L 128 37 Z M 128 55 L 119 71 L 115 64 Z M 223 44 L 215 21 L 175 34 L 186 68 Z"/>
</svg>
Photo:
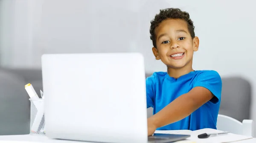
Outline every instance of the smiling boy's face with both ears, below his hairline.
<svg viewBox="0 0 256 143">
<path fill-rule="evenodd" d="M 168 19 L 155 30 L 157 48 L 152 48 L 154 56 L 171 68 L 192 66 L 194 51 L 198 50 L 199 39 L 192 39 L 184 20 Z"/>
</svg>

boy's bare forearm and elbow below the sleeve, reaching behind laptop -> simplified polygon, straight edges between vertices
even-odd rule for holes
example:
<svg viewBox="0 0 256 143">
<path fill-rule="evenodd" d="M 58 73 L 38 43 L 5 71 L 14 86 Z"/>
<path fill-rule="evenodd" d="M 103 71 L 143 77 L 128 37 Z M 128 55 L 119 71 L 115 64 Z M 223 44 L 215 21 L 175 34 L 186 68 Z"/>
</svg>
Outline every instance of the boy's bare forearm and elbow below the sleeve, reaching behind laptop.
<svg viewBox="0 0 256 143">
<path fill-rule="evenodd" d="M 180 95 L 162 110 L 148 118 L 148 124 L 151 124 L 151 126 L 157 129 L 161 126 L 179 121 L 212 99 L 213 96 L 208 89 L 195 87 L 189 93 Z"/>
</svg>

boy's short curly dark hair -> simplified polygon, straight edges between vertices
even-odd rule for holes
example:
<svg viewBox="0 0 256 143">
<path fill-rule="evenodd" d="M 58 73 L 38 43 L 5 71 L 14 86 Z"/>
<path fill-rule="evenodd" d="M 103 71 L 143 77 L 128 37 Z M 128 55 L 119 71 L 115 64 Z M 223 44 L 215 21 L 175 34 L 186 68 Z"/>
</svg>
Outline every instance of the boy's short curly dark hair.
<svg viewBox="0 0 256 143">
<path fill-rule="evenodd" d="M 151 26 L 150 26 L 150 39 L 153 42 L 153 45 L 155 48 L 157 48 L 156 45 L 156 37 L 155 37 L 155 29 L 157 26 L 166 19 L 181 19 L 187 22 L 188 24 L 188 30 L 192 38 L 195 37 L 193 21 L 189 18 L 189 13 L 186 11 L 181 11 L 179 8 L 166 8 L 160 10 L 159 14 L 155 15 L 155 18 L 151 20 Z"/>
</svg>

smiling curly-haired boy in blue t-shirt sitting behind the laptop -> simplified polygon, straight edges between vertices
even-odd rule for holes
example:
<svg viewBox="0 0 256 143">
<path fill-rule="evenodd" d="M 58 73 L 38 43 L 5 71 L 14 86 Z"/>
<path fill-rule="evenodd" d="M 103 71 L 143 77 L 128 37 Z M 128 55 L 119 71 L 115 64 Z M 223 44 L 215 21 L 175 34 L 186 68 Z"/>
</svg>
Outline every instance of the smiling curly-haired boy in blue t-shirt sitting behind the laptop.
<svg viewBox="0 0 256 143">
<path fill-rule="evenodd" d="M 214 70 L 193 70 L 199 39 L 189 14 L 178 8 L 160 10 L 151 21 L 152 51 L 167 66 L 146 79 L 148 135 L 156 129 L 216 129 L 222 81 Z"/>
</svg>

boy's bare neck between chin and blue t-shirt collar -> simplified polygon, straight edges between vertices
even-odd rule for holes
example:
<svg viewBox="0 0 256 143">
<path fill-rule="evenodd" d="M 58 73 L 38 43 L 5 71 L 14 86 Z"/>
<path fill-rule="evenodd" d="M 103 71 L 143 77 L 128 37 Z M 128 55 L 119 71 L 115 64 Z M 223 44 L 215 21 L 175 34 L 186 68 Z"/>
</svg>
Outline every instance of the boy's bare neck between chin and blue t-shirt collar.
<svg viewBox="0 0 256 143">
<path fill-rule="evenodd" d="M 183 76 L 185 74 L 188 74 L 188 73 L 190 73 L 192 71 L 194 71 L 192 69 L 192 67 L 183 67 L 183 68 L 178 68 L 178 69 L 171 68 L 171 67 L 167 68 L 167 73 L 169 74 L 169 76 L 173 77 L 175 79 L 177 79 L 180 76 Z"/>
</svg>

